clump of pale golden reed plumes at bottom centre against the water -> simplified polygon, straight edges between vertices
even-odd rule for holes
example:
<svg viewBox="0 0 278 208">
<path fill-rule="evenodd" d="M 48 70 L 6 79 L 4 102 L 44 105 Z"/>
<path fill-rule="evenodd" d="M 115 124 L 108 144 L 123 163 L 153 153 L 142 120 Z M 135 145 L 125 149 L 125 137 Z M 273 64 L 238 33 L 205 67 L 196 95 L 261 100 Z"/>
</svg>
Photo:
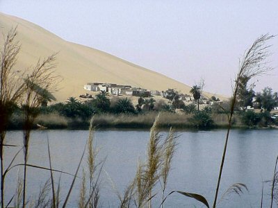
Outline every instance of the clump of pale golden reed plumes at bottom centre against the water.
<svg viewBox="0 0 278 208">
<path fill-rule="evenodd" d="M 170 172 L 172 157 L 174 155 L 175 146 L 177 144 L 177 135 L 172 128 L 163 139 L 161 132 L 158 130 L 160 114 L 156 117 L 154 124 L 150 130 L 149 143 L 147 145 L 147 160 L 139 162 L 134 182 L 126 189 L 125 196 L 130 198 L 135 196 L 136 207 L 152 207 L 152 198 L 156 195 L 152 193 L 156 183 L 161 178 L 161 187 L 163 189 L 163 200 L 167 177 Z M 135 193 L 131 193 L 131 190 Z M 126 198 L 127 202 L 130 200 Z"/>
</svg>

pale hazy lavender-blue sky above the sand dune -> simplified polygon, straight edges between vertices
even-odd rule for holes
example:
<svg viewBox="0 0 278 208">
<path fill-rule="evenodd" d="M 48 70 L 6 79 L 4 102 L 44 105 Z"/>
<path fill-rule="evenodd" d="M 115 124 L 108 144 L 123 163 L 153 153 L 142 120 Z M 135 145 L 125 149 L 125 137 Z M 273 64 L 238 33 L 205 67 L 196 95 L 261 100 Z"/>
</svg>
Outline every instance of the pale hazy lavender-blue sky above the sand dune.
<svg viewBox="0 0 278 208">
<path fill-rule="evenodd" d="M 0 0 L 0 11 L 187 85 L 204 78 L 206 91 L 225 95 L 247 47 L 278 35 L 277 0 Z M 270 44 L 276 69 L 258 78 L 256 91 L 278 91 L 278 36 Z"/>
</svg>

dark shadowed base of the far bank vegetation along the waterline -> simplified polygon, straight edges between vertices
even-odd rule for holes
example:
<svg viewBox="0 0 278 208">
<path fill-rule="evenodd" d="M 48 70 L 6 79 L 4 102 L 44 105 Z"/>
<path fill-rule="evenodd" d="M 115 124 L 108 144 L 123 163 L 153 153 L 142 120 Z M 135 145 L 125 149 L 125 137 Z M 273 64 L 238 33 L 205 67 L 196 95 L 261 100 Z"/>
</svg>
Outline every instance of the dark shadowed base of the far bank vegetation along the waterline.
<svg viewBox="0 0 278 208">
<path fill-rule="evenodd" d="M 129 115 L 130 116 L 130 115 Z M 106 121 L 96 116 L 95 128 L 97 130 L 149 130 L 152 128 L 152 124 L 145 121 L 126 121 L 118 120 L 117 123 L 114 121 Z M 150 121 L 152 122 L 152 121 Z M 35 122 L 32 129 L 33 130 L 88 130 L 90 127 L 90 121 L 81 121 L 79 119 L 68 119 L 63 123 L 51 122 L 49 120 L 38 119 Z M 183 123 L 181 121 L 176 122 L 161 122 L 158 124 L 160 130 L 169 130 L 169 128 L 174 128 L 175 130 L 189 130 L 189 131 L 198 131 L 198 130 L 227 130 L 228 125 L 226 123 L 213 123 L 209 127 L 197 127 L 193 126 L 192 123 L 187 122 Z M 269 126 L 247 126 L 242 123 L 235 123 L 231 127 L 232 129 L 243 129 L 243 130 L 271 130 L 278 129 L 278 125 L 269 125 Z M 23 123 L 20 121 L 11 122 L 8 126 L 8 130 L 23 130 Z"/>
</svg>

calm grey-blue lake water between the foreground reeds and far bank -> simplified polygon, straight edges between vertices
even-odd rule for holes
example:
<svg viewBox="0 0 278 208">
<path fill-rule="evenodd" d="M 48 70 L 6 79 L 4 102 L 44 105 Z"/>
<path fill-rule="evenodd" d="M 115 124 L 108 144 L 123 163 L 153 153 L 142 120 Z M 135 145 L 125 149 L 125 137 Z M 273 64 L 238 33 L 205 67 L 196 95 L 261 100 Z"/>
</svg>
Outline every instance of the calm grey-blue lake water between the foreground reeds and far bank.
<svg viewBox="0 0 278 208">
<path fill-rule="evenodd" d="M 178 132 L 178 146 L 172 162 L 166 193 L 172 190 L 202 194 L 213 204 L 215 187 L 224 146 L 226 130 Z M 51 148 L 53 168 L 74 173 L 79 164 L 87 130 L 36 130 L 31 135 L 29 164 L 49 167 L 47 137 Z M 22 145 L 22 132 L 10 131 L 8 144 Z M 95 145 L 99 149 L 99 160 L 106 157 L 101 174 L 101 207 L 117 207 L 116 190 L 123 192 L 136 174 L 138 161 L 144 161 L 149 132 L 145 130 L 98 130 Z M 5 162 L 8 164 L 19 147 L 6 148 Z M 278 130 L 232 130 L 227 148 L 227 157 L 220 184 L 220 196 L 231 184 L 241 182 L 249 192 L 242 196 L 230 195 L 218 207 L 260 207 L 262 182 L 271 180 L 278 155 Z M 85 160 L 83 166 L 85 166 Z M 22 162 L 22 153 L 15 161 Z M 6 178 L 6 200 L 15 193 L 17 175 L 22 169 L 13 168 Z M 81 176 L 82 170 L 79 172 Z M 72 177 L 55 173 L 56 187 L 60 179 L 61 200 L 70 187 Z M 28 168 L 28 199 L 38 194 L 38 189 L 49 179 L 49 171 Z M 113 182 L 111 182 L 113 181 Z M 68 207 L 76 207 L 80 179 L 70 198 Z M 270 207 L 270 183 L 264 184 L 263 205 Z M 152 200 L 153 207 L 161 202 L 160 185 L 157 184 Z M 220 197 L 219 197 L 220 198 Z M 173 194 L 165 201 L 165 207 L 204 207 L 201 203 Z"/>
</svg>

